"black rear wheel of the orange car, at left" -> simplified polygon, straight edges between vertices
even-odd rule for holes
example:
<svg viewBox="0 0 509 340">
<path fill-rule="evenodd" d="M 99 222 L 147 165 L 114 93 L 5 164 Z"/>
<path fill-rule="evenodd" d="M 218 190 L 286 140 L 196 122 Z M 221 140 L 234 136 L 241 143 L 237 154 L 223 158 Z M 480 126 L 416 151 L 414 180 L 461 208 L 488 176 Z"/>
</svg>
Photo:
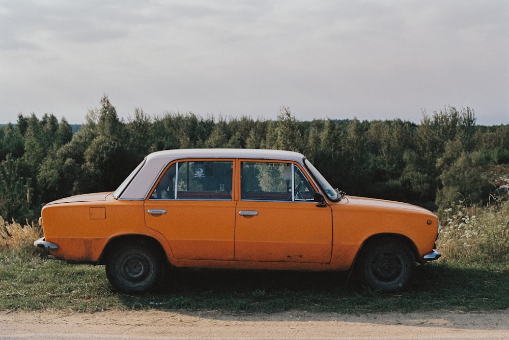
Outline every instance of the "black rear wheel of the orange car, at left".
<svg viewBox="0 0 509 340">
<path fill-rule="evenodd" d="M 117 244 L 107 255 L 106 276 L 122 293 L 153 290 L 164 274 L 161 252 L 150 242 L 129 241 Z"/>
</svg>

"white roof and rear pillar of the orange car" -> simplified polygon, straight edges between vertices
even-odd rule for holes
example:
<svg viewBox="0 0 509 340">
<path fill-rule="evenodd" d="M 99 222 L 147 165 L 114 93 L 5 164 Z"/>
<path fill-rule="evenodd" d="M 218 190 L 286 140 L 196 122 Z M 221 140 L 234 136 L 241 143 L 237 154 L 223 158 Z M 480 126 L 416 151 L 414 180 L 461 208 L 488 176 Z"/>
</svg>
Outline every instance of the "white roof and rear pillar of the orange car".
<svg viewBox="0 0 509 340">
<path fill-rule="evenodd" d="M 264 149 L 174 149 L 150 153 L 134 178 L 121 190 L 119 199 L 143 200 L 168 163 L 188 158 L 231 158 L 294 161 L 302 164 L 303 154 Z M 124 185 L 121 184 L 121 187 Z M 120 188 L 119 188 L 120 189 Z M 119 189 L 117 191 L 119 191 Z M 116 193 L 117 193 L 116 191 Z"/>
</svg>

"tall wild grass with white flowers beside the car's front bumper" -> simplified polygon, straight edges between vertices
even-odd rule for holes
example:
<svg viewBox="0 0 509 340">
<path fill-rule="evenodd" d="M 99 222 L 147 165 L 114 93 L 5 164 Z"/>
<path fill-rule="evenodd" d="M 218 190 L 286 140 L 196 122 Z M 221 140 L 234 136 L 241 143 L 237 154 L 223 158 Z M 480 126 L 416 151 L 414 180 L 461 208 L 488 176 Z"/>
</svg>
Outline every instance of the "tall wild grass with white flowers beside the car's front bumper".
<svg viewBox="0 0 509 340">
<path fill-rule="evenodd" d="M 437 246 L 445 261 L 509 263 L 509 201 L 486 208 L 453 202 L 441 220 Z"/>
</svg>

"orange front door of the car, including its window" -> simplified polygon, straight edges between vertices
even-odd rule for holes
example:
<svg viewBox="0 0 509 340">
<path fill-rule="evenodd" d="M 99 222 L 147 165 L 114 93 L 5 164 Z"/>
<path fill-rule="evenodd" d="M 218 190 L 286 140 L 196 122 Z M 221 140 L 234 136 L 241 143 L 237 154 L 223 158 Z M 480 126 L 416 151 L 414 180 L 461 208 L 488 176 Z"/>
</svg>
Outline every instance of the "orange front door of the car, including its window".
<svg viewBox="0 0 509 340">
<path fill-rule="evenodd" d="M 302 169 L 291 162 L 239 163 L 235 259 L 330 262 L 331 208 L 314 201 L 316 190 Z"/>
</svg>

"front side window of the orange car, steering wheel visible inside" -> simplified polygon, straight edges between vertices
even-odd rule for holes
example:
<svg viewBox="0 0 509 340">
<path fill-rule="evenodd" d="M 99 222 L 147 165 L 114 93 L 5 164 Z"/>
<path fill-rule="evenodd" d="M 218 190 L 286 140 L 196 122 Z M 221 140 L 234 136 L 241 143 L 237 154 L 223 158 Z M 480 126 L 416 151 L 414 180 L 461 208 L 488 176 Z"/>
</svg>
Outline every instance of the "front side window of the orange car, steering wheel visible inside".
<svg viewBox="0 0 509 340">
<path fill-rule="evenodd" d="M 315 191 L 292 163 L 242 162 L 241 199 L 313 201 Z"/>
</svg>

